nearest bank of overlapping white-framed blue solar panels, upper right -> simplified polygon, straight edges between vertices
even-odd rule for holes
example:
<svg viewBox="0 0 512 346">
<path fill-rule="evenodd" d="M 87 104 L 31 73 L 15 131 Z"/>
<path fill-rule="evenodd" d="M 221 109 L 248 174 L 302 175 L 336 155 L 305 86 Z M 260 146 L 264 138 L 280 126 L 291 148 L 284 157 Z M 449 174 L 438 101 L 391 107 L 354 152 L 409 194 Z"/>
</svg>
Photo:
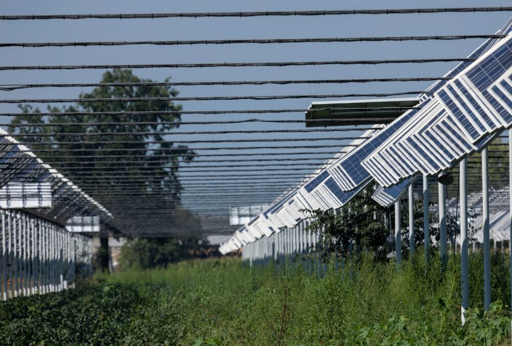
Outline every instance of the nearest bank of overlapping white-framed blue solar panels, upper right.
<svg viewBox="0 0 512 346">
<path fill-rule="evenodd" d="M 437 174 L 468 153 L 479 150 L 487 142 L 480 139 L 492 137 L 505 126 L 512 125 L 512 94 L 507 90 L 512 85 L 510 75 L 511 35 L 439 88 L 429 104 L 417 113 L 422 121 L 410 127 L 408 133 L 395 143 L 381 146 L 363 165 L 379 184 L 391 186 L 418 172 Z M 397 143 L 408 145 L 410 156 L 404 156 L 403 160 L 416 167 L 413 173 L 403 169 L 400 172 L 404 165 L 396 160 L 382 159 L 393 152 L 394 146 L 397 149 L 404 147 Z M 418 157 L 428 165 L 414 165 Z M 374 169 L 374 162 L 367 164 L 372 161 L 381 164 L 383 174 Z"/>
</svg>

